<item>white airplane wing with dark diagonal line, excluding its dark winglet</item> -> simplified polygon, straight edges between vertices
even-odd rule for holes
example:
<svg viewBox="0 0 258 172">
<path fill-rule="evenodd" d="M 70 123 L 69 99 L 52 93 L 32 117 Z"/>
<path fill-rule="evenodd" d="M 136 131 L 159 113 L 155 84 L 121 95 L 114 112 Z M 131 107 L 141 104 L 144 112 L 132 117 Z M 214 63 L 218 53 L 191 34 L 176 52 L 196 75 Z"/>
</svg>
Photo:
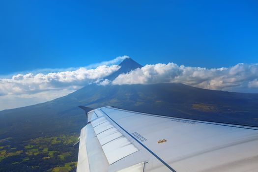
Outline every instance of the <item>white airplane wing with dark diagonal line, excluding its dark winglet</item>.
<svg viewBox="0 0 258 172">
<path fill-rule="evenodd" d="M 258 172 L 258 128 L 92 110 L 77 172 Z"/>
</svg>

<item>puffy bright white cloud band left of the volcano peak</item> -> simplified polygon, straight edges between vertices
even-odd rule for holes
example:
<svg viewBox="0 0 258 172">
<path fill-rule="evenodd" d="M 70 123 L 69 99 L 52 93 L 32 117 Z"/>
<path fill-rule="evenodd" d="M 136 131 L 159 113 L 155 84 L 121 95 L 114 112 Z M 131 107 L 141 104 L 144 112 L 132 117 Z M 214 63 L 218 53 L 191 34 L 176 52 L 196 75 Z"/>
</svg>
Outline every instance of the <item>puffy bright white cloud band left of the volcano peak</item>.
<svg viewBox="0 0 258 172">
<path fill-rule="evenodd" d="M 84 86 L 97 79 L 104 78 L 118 70 L 118 65 L 101 65 L 95 69 L 79 68 L 75 71 L 64 71 L 48 74 L 14 75 L 11 79 L 0 79 L 1 94 L 34 94 L 47 90 L 60 90 Z"/>
</svg>

